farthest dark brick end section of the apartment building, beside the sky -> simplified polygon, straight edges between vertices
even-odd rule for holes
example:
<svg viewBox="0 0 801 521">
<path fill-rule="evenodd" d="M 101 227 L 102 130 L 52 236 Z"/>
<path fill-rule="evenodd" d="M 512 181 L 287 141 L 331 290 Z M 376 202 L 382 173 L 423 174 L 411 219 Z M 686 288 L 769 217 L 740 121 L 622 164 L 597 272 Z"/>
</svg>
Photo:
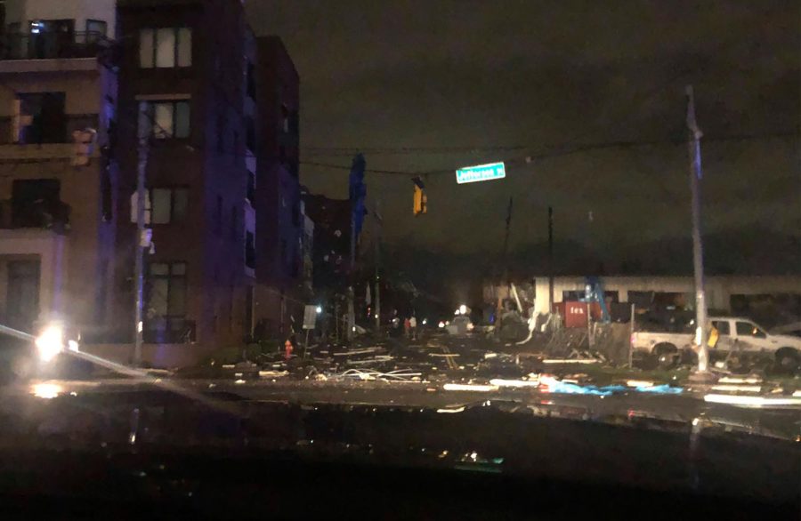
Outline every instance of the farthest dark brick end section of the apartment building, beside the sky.
<svg viewBox="0 0 801 521">
<path fill-rule="evenodd" d="M 255 43 L 255 309 L 261 334 L 286 335 L 304 304 L 299 78 L 278 37 Z"/>
</svg>

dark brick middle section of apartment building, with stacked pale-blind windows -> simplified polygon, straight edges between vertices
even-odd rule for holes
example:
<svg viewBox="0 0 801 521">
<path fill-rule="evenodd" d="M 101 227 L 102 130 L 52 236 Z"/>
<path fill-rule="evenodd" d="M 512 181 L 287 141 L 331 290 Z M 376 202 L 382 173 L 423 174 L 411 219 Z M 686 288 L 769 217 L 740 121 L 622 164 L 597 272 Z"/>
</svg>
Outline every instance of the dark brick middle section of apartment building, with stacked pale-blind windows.
<svg viewBox="0 0 801 521">
<path fill-rule="evenodd" d="M 147 255 L 145 342 L 197 350 L 248 332 L 245 35 L 235 0 L 120 0 L 121 179 L 116 311 L 133 333 L 137 132 L 150 133 L 145 184 L 154 251 Z M 139 116 L 144 103 L 146 115 Z M 135 124 L 134 124 L 135 123 Z M 125 334 L 123 335 L 125 336 Z M 185 349 L 182 347 L 178 349 Z"/>
</svg>

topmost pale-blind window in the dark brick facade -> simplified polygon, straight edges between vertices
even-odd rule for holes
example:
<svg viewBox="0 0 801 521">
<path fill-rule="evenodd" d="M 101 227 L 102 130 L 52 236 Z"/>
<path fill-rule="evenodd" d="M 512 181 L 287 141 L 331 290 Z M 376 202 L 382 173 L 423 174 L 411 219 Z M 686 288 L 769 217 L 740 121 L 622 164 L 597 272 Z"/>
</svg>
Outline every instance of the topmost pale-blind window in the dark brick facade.
<svg viewBox="0 0 801 521">
<path fill-rule="evenodd" d="M 192 29 L 143 28 L 139 31 L 141 68 L 191 67 Z"/>
</svg>

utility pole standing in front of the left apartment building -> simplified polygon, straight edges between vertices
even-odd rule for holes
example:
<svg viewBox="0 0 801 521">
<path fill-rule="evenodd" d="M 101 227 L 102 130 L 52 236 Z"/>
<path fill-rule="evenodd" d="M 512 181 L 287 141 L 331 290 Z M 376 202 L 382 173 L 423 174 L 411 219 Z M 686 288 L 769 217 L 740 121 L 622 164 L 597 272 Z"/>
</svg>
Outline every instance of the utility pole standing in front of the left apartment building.
<svg viewBox="0 0 801 521">
<path fill-rule="evenodd" d="M 148 104 L 144 101 L 139 103 L 139 164 L 136 168 L 136 245 L 135 252 L 135 278 L 136 278 L 136 311 L 134 313 L 134 365 L 142 365 L 142 309 L 144 308 L 144 248 L 147 240 L 145 234 L 145 204 L 147 193 L 145 191 L 145 175 L 148 168 L 148 152 L 150 147 L 150 124 L 142 122 L 150 121 L 148 114 Z"/>
</svg>

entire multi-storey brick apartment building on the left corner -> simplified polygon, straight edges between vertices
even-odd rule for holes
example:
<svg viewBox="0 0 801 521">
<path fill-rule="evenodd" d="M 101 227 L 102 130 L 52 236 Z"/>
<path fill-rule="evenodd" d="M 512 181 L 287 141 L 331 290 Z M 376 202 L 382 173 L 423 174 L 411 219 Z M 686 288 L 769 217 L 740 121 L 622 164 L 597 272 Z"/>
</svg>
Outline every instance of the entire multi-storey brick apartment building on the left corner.
<svg viewBox="0 0 801 521">
<path fill-rule="evenodd" d="M 303 220 L 298 81 L 280 41 L 253 37 L 239 0 L 5 6 L 0 319 L 63 312 L 104 344 L 95 352 L 130 357 L 144 128 L 145 361 L 189 363 L 260 322 L 286 331 Z"/>
</svg>

